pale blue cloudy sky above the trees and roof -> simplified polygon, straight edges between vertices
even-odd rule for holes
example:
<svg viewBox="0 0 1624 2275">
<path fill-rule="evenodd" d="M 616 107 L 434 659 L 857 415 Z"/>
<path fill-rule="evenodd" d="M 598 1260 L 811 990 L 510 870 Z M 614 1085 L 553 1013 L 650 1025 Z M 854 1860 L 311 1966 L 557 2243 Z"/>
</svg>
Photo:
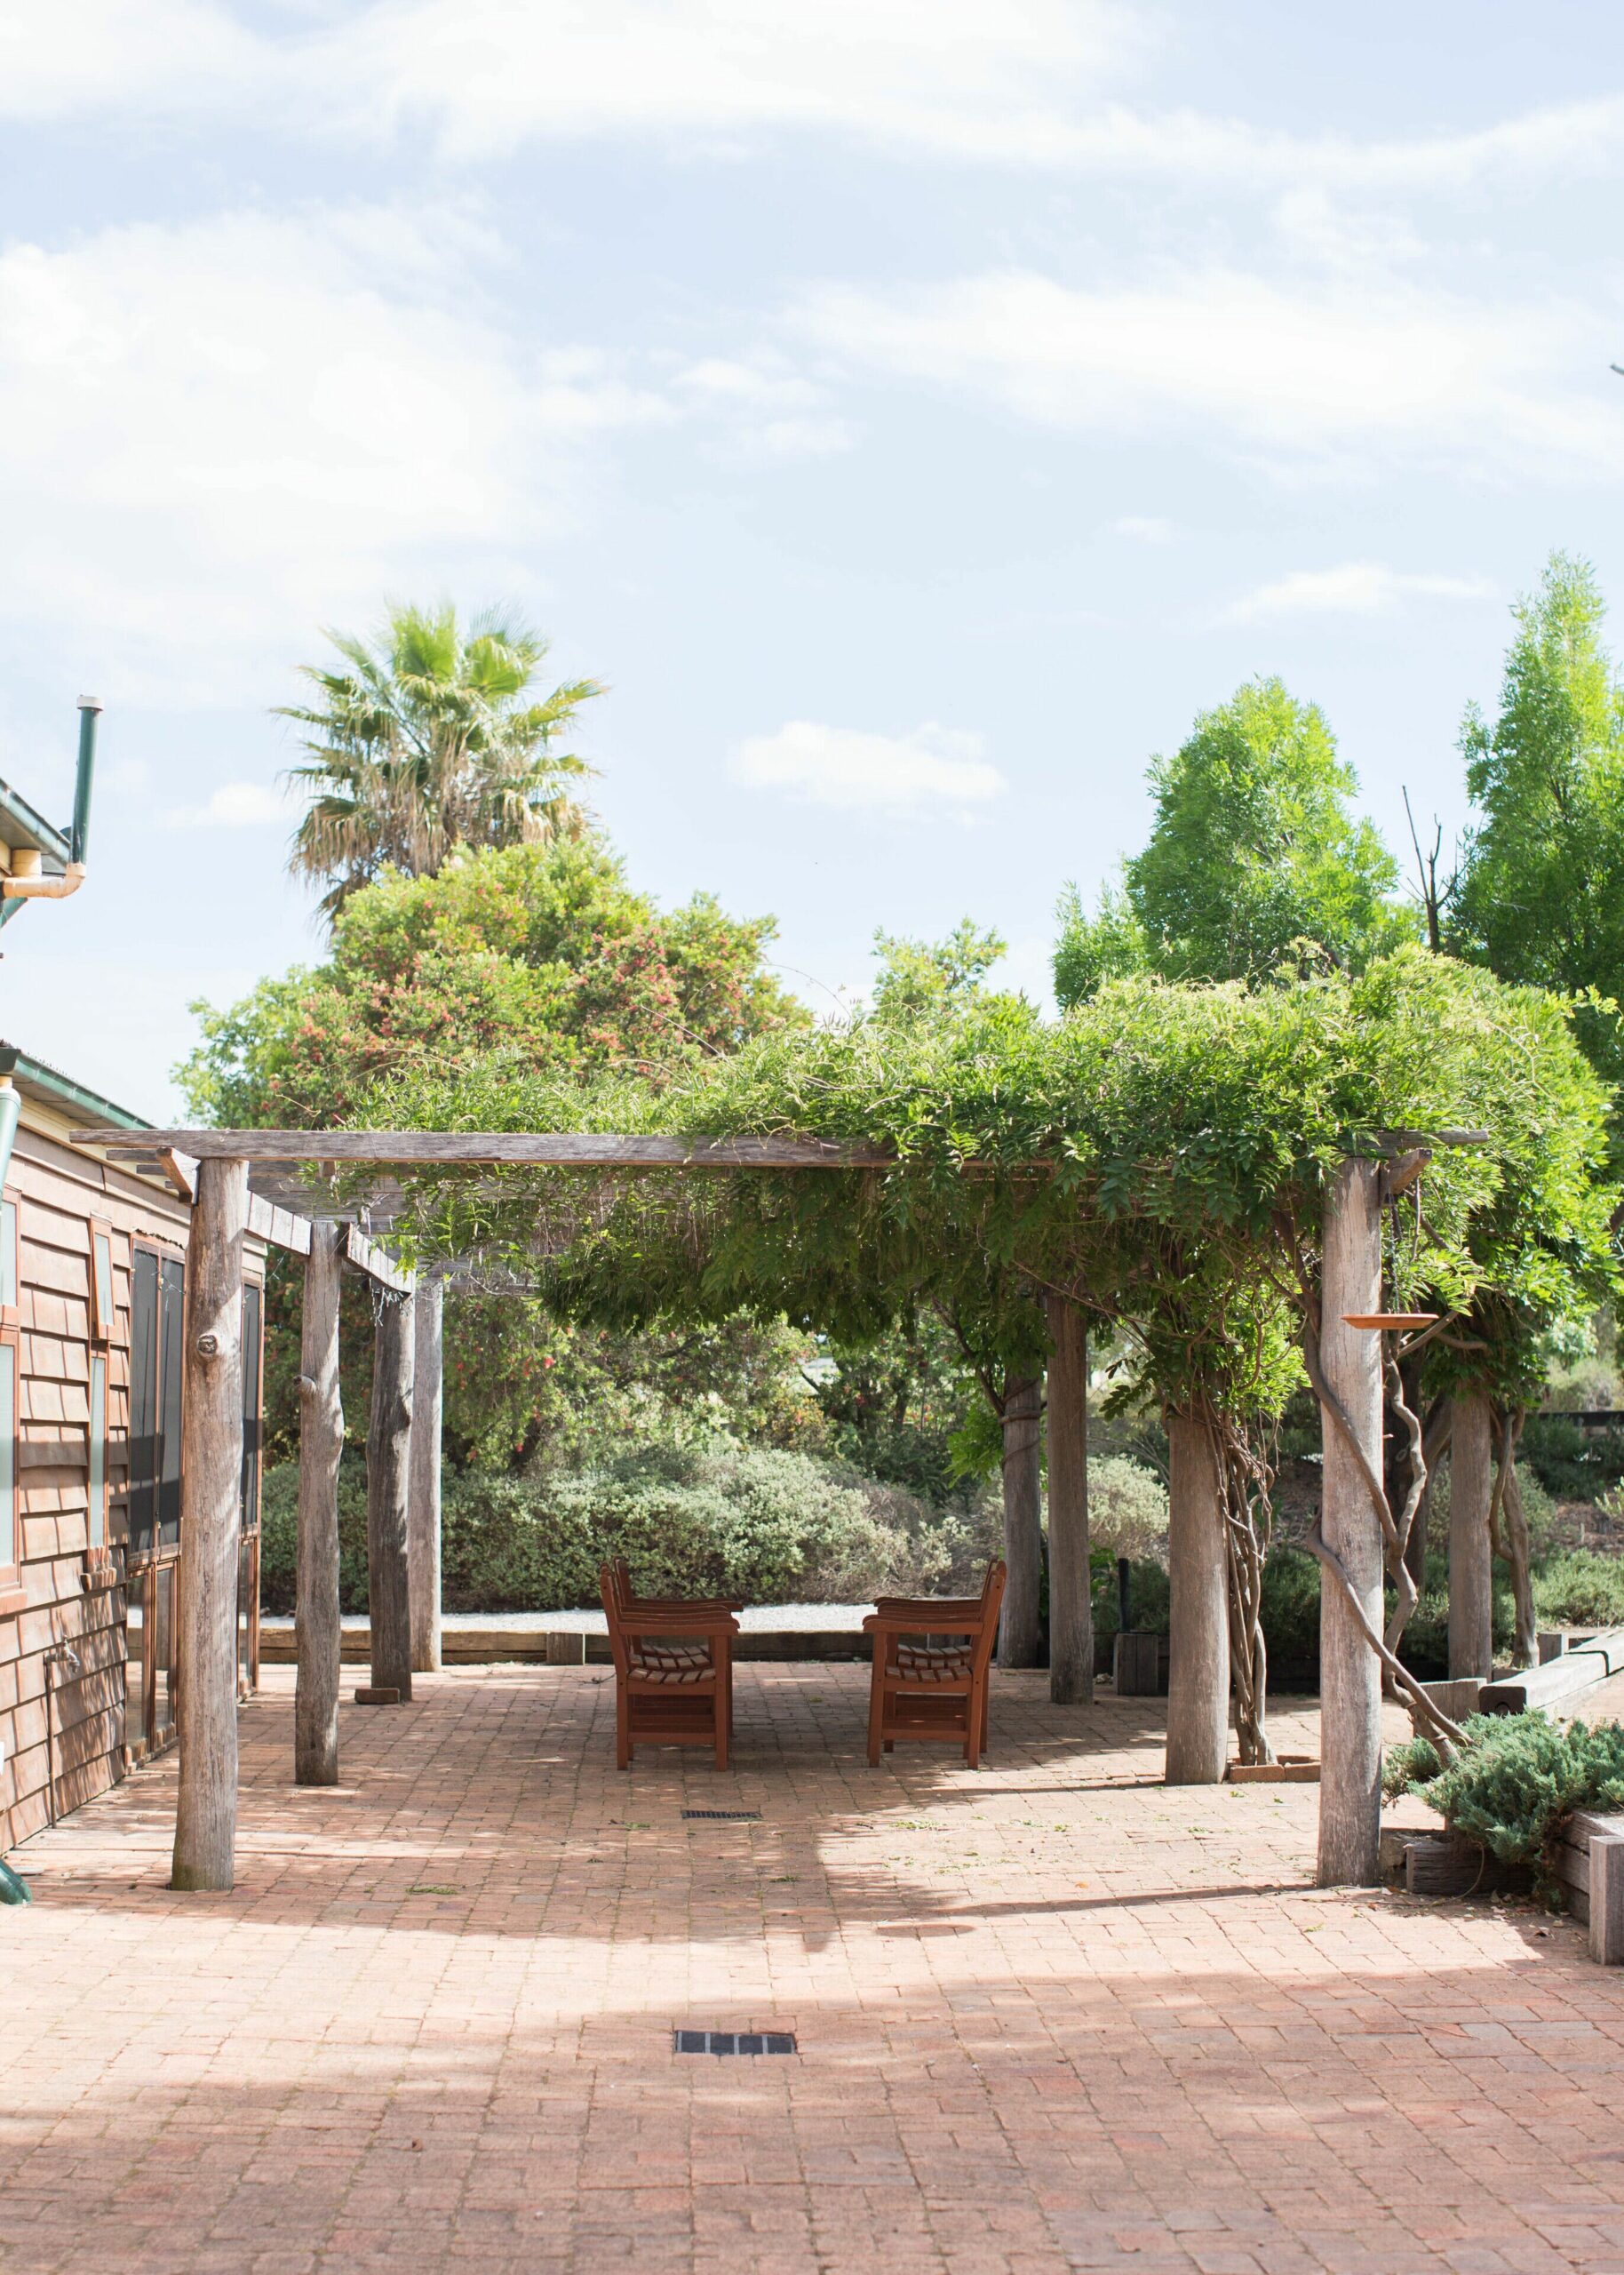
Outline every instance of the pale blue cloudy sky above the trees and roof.
<svg viewBox="0 0 1624 2275">
<path fill-rule="evenodd" d="M 1624 576 L 1624 20 L 1433 0 L 7 0 L 0 774 L 91 874 L 0 1033 L 155 1119 L 321 956 L 273 712 L 323 626 L 503 603 L 594 676 L 632 880 L 1008 942 L 1256 673 L 1362 808 L 1551 548 Z"/>
</svg>

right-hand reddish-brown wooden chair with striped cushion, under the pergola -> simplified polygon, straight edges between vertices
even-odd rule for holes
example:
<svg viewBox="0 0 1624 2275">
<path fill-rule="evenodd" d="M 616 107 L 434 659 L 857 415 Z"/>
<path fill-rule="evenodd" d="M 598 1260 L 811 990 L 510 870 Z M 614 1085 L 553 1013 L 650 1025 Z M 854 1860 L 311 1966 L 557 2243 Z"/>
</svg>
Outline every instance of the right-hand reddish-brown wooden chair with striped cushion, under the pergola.
<svg viewBox="0 0 1624 2275">
<path fill-rule="evenodd" d="M 980 1768 L 987 1745 L 987 1670 L 999 1638 L 1005 1565 L 987 1565 L 978 1597 L 880 1597 L 862 1622 L 873 1636 L 869 1679 L 869 1761 L 898 1738 L 962 1745 L 964 1765 Z M 951 1638 L 951 1640 L 944 1640 Z"/>
</svg>

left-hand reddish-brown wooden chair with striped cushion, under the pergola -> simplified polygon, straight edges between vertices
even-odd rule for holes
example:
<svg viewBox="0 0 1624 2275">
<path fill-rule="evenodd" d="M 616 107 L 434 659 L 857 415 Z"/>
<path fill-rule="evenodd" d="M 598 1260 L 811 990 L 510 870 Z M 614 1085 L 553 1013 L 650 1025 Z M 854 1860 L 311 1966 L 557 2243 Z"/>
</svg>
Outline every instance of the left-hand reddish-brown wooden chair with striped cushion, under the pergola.
<svg viewBox="0 0 1624 2275">
<path fill-rule="evenodd" d="M 598 1574 L 614 1654 L 614 1765 L 630 1770 L 637 1743 L 710 1745 L 728 1768 L 732 1743 L 732 1638 L 737 1604 L 637 1597 L 623 1558 Z"/>
</svg>

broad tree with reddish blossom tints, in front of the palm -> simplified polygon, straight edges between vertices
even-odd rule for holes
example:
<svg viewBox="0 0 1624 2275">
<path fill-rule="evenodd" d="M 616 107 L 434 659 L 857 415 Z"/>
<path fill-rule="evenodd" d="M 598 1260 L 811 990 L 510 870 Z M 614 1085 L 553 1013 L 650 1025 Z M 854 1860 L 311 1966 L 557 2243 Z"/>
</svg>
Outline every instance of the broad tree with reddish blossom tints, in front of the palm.
<svg viewBox="0 0 1624 2275">
<path fill-rule="evenodd" d="M 175 1078 L 200 1122 L 234 1128 L 328 1128 L 353 1119 L 389 1076 L 432 1074 L 455 1090 L 487 1062 L 546 1072 L 566 1092 L 612 1069 L 657 1083 L 687 1060 L 805 1024 L 762 962 L 771 935 L 771 919 L 728 917 L 705 894 L 660 910 L 594 835 L 457 849 L 434 876 L 387 871 L 355 892 L 318 969 L 262 981 L 225 1010 L 193 1003 L 202 1040 Z M 446 1442 L 457 1458 L 523 1463 L 632 1379 L 662 1413 L 678 1404 L 657 1340 L 605 1356 L 546 1315 L 523 1272 L 516 1279 L 498 1274 L 489 1290 L 448 1299 Z M 266 1320 L 275 1445 L 296 1429 L 298 1356 L 298 1297 L 280 1279 Z M 685 1338 L 701 1351 L 696 1379 L 719 1388 L 728 1413 L 751 1367 L 762 1374 L 757 1358 L 730 1354 L 757 1345 L 755 1331 L 728 1322 L 710 1342 Z M 366 1349 L 357 1299 L 343 1401 L 359 1429 Z M 767 1374 L 782 1365 L 771 1360 Z"/>
</svg>

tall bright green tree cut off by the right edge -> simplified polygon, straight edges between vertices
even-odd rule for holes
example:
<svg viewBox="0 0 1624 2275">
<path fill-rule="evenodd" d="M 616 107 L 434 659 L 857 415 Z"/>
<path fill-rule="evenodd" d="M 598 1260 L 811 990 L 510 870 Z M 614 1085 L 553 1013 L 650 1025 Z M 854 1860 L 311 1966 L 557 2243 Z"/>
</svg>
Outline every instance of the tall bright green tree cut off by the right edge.
<svg viewBox="0 0 1624 2275">
<path fill-rule="evenodd" d="M 1624 996 L 1624 680 L 1601 632 L 1590 562 L 1553 553 L 1513 610 L 1499 712 L 1474 705 L 1460 746 L 1481 812 L 1456 901 L 1463 953 L 1501 978 Z M 1615 1017 L 1581 1006 L 1576 1033 L 1617 1081 Z"/>
</svg>

